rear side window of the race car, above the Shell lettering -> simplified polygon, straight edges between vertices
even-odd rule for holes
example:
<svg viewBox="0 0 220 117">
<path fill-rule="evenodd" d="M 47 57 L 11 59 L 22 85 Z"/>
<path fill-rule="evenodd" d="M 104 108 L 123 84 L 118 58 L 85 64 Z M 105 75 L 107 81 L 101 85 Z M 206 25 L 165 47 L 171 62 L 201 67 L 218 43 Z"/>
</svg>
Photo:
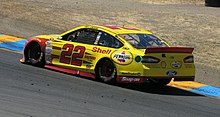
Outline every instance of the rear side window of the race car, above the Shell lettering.
<svg viewBox="0 0 220 117">
<path fill-rule="evenodd" d="M 105 46 L 105 47 L 112 47 L 112 48 L 120 48 L 123 46 L 123 44 L 113 36 L 105 33 L 105 32 L 99 32 L 97 38 L 99 46 Z"/>
</svg>

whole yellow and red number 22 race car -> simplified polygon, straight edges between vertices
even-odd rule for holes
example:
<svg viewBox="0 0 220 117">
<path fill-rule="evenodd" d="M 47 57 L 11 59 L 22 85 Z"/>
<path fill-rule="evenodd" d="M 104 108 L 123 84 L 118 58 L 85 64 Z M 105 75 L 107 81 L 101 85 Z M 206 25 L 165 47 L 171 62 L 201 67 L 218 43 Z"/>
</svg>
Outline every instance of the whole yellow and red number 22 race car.
<svg viewBox="0 0 220 117">
<path fill-rule="evenodd" d="M 21 62 L 106 83 L 164 86 L 172 78 L 194 80 L 192 53 L 193 48 L 171 47 L 145 29 L 83 25 L 29 38 Z"/>
</svg>

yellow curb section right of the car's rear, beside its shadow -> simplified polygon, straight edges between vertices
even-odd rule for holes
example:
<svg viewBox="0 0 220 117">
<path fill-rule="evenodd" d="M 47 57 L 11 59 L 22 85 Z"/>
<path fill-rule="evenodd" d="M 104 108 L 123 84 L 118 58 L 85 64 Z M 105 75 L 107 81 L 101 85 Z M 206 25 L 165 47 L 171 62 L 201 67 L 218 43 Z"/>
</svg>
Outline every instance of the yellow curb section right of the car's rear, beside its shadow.
<svg viewBox="0 0 220 117">
<path fill-rule="evenodd" d="M 198 87 L 208 86 L 208 85 L 193 81 L 179 81 L 179 82 L 172 81 L 170 82 L 170 84 L 168 84 L 168 86 L 176 87 L 183 90 L 192 90 Z"/>
</svg>

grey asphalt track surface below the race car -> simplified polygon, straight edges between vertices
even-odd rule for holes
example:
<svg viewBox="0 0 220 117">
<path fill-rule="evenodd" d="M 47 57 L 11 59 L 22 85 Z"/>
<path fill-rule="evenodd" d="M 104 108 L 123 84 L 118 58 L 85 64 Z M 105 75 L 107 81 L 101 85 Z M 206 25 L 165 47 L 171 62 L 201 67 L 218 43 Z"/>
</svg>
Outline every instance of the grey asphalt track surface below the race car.
<svg viewBox="0 0 220 117">
<path fill-rule="evenodd" d="M 0 50 L 0 117 L 219 117 L 219 99 L 173 87 L 107 85 L 21 64 Z"/>
</svg>

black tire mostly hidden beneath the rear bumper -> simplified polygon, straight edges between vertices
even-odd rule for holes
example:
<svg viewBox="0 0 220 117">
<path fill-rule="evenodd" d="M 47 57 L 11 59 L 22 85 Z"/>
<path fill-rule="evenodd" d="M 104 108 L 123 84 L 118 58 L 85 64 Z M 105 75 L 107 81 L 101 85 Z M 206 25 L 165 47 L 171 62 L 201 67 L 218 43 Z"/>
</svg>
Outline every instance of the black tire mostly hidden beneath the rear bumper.
<svg viewBox="0 0 220 117">
<path fill-rule="evenodd" d="M 169 78 L 169 79 L 151 79 L 150 83 L 153 86 L 163 87 L 163 86 L 166 86 L 167 84 L 169 84 L 171 80 L 172 80 L 172 78 Z"/>
</svg>

